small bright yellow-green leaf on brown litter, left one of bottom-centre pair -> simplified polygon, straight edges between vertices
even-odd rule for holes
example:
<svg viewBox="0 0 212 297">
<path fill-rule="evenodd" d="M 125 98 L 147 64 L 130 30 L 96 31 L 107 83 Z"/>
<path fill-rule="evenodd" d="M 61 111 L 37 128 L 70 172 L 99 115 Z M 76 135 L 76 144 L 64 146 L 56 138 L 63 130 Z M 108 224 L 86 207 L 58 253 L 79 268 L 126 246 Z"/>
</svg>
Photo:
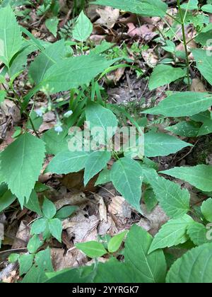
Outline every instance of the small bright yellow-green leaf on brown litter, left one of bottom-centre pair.
<svg viewBox="0 0 212 297">
<path fill-rule="evenodd" d="M 97 241 L 88 241 L 87 243 L 77 243 L 76 248 L 84 252 L 90 258 L 98 258 L 107 254 L 107 250 L 105 250 L 102 243 L 98 243 Z"/>
</svg>

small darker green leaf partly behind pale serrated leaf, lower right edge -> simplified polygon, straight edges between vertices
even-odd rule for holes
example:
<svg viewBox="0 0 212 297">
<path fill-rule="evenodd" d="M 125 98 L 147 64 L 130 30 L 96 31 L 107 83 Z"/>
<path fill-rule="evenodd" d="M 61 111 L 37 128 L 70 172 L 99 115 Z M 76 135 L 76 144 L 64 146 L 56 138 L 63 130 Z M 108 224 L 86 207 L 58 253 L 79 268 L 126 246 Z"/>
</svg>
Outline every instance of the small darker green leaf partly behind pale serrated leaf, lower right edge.
<svg viewBox="0 0 212 297">
<path fill-rule="evenodd" d="M 204 245 L 208 243 L 206 226 L 202 223 L 194 222 L 187 228 L 187 234 L 191 238 L 194 245 Z"/>
</svg>

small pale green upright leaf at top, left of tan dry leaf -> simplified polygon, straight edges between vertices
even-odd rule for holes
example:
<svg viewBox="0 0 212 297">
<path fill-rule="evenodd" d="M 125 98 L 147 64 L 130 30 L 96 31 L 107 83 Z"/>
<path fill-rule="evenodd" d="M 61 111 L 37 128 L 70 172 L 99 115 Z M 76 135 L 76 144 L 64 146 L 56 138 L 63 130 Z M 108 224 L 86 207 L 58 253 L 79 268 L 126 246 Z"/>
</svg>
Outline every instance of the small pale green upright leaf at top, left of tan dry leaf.
<svg viewBox="0 0 212 297">
<path fill-rule="evenodd" d="M 81 11 L 80 15 L 76 20 L 76 25 L 73 28 L 73 39 L 78 41 L 86 41 L 90 34 L 92 33 L 93 25 L 89 18 Z"/>
</svg>

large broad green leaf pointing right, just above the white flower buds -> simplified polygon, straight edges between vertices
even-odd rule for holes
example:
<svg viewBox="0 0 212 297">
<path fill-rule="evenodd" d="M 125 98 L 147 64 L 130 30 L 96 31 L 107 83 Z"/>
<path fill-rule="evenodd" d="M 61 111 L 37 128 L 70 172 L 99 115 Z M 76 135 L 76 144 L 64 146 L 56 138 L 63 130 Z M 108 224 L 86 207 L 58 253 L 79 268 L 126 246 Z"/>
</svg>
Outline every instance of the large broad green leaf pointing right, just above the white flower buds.
<svg viewBox="0 0 212 297">
<path fill-rule="evenodd" d="M 48 88 L 51 93 L 69 91 L 90 83 L 113 63 L 113 60 L 108 61 L 96 54 L 67 58 L 47 69 L 40 86 Z"/>
</svg>

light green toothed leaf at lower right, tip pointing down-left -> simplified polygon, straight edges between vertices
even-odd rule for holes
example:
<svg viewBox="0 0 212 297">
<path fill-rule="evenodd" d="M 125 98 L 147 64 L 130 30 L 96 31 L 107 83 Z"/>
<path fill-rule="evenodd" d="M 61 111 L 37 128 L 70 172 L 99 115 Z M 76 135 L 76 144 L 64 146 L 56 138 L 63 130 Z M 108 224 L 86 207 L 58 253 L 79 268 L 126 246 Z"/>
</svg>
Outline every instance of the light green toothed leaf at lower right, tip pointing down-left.
<svg viewBox="0 0 212 297">
<path fill-rule="evenodd" d="M 187 228 L 194 223 L 191 216 L 185 214 L 179 219 L 172 219 L 162 226 L 160 231 L 155 235 L 149 253 L 160 248 L 170 248 L 180 243 L 186 243 L 189 239 Z"/>
</svg>

